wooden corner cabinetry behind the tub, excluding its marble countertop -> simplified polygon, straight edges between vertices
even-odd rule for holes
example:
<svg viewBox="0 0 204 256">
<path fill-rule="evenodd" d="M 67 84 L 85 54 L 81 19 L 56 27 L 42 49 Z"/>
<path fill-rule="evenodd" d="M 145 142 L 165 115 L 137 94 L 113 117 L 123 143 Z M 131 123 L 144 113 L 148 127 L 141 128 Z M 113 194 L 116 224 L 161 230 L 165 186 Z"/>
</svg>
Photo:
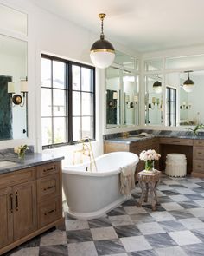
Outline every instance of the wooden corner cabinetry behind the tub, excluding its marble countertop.
<svg viewBox="0 0 204 256">
<path fill-rule="evenodd" d="M 141 151 L 147 149 L 155 149 L 156 152 L 161 154 L 160 161 L 156 161 L 155 167 L 157 169 L 165 170 L 167 154 L 185 154 L 187 158 L 187 173 L 192 174 L 194 177 L 204 178 L 204 139 L 160 137 L 144 141 L 133 141 L 131 144 L 105 141 L 105 153 L 130 151 L 139 155 Z M 144 162 L 139 161 L 137 164 L 137 172 L 143 170 L 143 168 Z"/>
</svg>

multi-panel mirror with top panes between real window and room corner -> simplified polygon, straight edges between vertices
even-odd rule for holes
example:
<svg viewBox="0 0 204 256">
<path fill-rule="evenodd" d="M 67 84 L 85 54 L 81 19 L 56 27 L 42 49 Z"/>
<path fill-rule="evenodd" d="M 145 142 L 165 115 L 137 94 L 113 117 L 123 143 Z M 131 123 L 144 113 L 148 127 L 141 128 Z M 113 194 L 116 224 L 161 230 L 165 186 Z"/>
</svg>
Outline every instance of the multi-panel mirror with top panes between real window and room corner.
<svg viewBox="0 0 204 256">
<path fill-rule="evenodd" d="M 116 58 L 106 69 L 106 128 L 138 125 L 138 61 L 116 51 Z"/>
</svg>

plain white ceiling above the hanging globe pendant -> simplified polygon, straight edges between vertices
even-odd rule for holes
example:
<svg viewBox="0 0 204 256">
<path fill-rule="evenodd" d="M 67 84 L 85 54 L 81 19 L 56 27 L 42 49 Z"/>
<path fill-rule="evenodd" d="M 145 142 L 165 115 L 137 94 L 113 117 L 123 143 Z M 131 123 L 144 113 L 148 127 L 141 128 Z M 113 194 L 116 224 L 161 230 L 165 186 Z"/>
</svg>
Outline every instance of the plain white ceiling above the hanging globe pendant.
<svg viewBox="0 0 204 256">
<path fill-rule="evenodd" d="M 31 0 L 105 38 L 146 52 L 204 43 L 203 0 Z"/>
</svg>

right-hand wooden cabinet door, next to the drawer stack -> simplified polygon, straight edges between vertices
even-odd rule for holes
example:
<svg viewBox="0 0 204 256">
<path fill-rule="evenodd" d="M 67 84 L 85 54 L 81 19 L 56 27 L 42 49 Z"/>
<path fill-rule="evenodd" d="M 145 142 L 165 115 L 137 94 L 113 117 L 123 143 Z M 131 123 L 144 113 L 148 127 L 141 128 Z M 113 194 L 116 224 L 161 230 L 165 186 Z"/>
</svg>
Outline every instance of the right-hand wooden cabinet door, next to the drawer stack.
<svg viewBox="0 0 204 256">
<path fill-rule="evenodd" d="M 29 181 L 13 187 L 14 194 L 14 240 L 36 229 L 36 186 Z"/>
</svg>

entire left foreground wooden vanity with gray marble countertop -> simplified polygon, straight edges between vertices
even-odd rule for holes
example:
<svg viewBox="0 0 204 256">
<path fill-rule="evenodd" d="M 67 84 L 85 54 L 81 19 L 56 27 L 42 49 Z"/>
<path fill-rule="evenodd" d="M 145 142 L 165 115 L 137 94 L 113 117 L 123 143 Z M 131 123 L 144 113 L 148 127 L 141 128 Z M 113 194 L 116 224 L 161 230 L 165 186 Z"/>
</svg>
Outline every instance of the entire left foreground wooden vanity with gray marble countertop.
<svg viewBox="0 0 204 256">
<path fill-rule="evenodd" d="M 28 154 L 23 161 L 0 160 L 0 255 L 61 224 L 62 159 Z"/>
</svg>

